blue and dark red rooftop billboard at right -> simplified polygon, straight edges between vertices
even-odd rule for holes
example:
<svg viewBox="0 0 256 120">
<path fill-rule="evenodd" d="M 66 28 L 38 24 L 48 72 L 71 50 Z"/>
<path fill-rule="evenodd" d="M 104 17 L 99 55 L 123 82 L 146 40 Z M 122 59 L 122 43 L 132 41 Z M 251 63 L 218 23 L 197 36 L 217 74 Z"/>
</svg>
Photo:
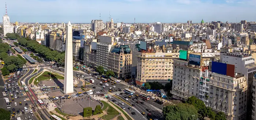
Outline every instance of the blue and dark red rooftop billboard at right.
<svg viewBox="0 0 256 120">
<path fill-rule="evenodd" d="M 235 77 L 235 65 L 212 61 L 212 72 Z"/>
</svg>

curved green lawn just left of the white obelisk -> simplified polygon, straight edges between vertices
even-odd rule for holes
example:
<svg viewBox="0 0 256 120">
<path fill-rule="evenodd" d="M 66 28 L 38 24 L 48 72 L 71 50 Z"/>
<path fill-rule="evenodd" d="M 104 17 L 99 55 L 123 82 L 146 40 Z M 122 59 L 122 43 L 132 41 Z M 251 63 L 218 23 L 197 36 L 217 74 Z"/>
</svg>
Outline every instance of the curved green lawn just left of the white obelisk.
<svg viewBox="0 0 256 120">
<path fill-rule="evenodd" d="M 54 74 L 52 72 L 48 72 L 48 71 L 45 71 L 44 73 L 42 73 L 42 75 L 38 76 L 38 82 L 34 82 L 34 84 L 38 84 L 39 81 L 41 80 L 49 80 L 49 79 L 64 79 L 63 76 L 60 76 L 60 75 L 57 75 L 57 74 Z"/>
</svg>

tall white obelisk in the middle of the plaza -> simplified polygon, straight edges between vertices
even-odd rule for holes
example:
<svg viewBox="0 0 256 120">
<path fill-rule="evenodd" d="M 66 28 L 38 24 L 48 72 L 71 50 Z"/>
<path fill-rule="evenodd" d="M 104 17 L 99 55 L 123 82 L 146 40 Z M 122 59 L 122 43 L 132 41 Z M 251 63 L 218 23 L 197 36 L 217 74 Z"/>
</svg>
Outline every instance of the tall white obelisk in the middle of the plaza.
<svg viewBox="0 0 256 120">
<path fill-rule="evenodd" d="M 73 93 L 73 55 L 72 55 L 72 25 L 70 21 L 66 27 L 65 74 L 64 93 Z"/>
</svg>

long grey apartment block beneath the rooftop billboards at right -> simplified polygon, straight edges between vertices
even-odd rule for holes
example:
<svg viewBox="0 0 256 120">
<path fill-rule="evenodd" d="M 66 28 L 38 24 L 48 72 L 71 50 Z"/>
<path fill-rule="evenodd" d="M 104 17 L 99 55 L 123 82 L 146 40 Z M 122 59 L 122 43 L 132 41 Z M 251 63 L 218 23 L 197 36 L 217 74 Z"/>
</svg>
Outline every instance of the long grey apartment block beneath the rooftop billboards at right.
<svg viewBox="0 0 256 120">
<path fill-rule="evenodd" d="M 196 96 L 207 107 L 225 113 L 228 120 L 246 120 L 247 80 L 243 74 L 222 75 L 209 71 L 208 67 L 193 66 L 178 59 L 173 65 L 170 93 L 174 99 L 185 101 Z"/>
</svg>

